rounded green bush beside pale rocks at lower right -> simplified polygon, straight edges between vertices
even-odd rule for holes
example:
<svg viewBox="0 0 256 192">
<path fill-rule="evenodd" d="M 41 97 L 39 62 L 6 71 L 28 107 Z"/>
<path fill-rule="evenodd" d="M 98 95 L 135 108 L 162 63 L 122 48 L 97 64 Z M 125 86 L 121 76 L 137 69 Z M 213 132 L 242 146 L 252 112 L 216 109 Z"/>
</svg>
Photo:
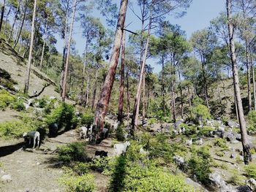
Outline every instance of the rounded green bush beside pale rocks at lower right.
<svg viewBox="0 0 256 192">
<path fill-rule="evenodd" d="M 197 180 L 203 184 L 208 184 L 209 174 L 211 173 L 211 155 L 208 147 L 200 147 L 198 150 L 192 152 L 191 158 L 188 161 L 189 173 L 197 176 Z"/>
</svg>

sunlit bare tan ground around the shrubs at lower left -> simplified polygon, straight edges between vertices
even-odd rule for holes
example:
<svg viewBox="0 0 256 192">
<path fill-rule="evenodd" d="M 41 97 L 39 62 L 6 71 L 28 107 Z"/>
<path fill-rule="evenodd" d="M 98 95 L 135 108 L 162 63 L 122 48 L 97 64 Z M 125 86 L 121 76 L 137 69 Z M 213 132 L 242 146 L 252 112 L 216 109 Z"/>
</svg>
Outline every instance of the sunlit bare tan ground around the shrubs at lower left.
<svg viewBox="0 0 256 192">
<path fill-rule="evenodd" d="M 58 178 L 63 174 L 61 169 L 54 168 L 58 161 L 54 150 L 58 146 L 66 145 L 70 142 L 80 141 L 78 133 L 71 130 L 56 138 L 49 138 L 39 149 L 23 150 L 23 139 L 15 141 L 0 140 L 0 177 L 10 174 L 12 181 L 0 182 L 0 191 L 3 192 L 58 192 L 64 191 L 64 187 L 59 185 Z M 106 140 L 99 145 L 99 150 L 111 150 L 110 140 Z M 89 155 L 93 155 L 95 146 L 88 145 Z M 13 152 L 13 153 L 12 153 Z M 109 151 L 112 153 L 112 151 Z M 97 174 L 97 173 L 95 173 Z M 103 176 L 103 175 L 102 175 Z M 103 179 L 103 180 L 102 180 Z M 98 191 L 105 191 L 108 178 L 96 180 Z"/>
</svg>

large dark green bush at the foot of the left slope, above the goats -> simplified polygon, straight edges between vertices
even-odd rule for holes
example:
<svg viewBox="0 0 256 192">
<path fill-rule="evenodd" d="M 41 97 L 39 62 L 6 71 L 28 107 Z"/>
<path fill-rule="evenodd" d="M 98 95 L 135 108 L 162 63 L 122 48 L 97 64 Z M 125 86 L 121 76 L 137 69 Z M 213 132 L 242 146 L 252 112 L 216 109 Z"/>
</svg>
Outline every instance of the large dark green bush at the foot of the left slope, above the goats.
<svg viewBox="0 0 256 192">
<path fill-rule="evenodd" d="M 62 102 L 56 109 L 46 116 L 45 122 L 50 125 L 51 123 L 58 123 L 59 128 L 65 126 L 65 129 L 72 128 L 76 125 L 74 107 L 70 104 Z"/>
</svg>

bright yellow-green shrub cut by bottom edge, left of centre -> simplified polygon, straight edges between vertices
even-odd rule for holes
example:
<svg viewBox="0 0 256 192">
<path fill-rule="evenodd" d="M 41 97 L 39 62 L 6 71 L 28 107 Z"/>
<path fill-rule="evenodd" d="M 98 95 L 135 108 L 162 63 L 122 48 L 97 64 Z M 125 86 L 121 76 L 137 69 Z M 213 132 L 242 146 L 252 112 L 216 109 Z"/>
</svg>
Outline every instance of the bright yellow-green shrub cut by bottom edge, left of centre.
<svg viewBox="0 0 256 192">
<path fill-rule="evenodd" d="M 67 186 L 69 192 L 92 192 L 96 190 L 93 174 L 73 174 L 71 170 L 59 179 L 59 183 Z"/>
</svg>

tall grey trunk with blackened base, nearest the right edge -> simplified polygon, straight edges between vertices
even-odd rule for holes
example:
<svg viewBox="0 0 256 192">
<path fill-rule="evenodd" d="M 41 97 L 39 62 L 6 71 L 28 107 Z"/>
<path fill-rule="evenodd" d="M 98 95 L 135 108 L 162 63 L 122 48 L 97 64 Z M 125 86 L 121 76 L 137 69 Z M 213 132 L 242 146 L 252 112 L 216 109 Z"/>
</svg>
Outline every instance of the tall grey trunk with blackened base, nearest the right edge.
<svg viewBox="0 0 256 192">
<path fill-rule="evenodd" d="M 236 64 L 236 48 L 234 43 L 234 27 L 231 21 L 231 0 L 227 1 L 227 26 L 228 26 L 228 34 L 229 34 L 229 41 L 230 41 L 230 58 L 232 63 L 233 69 L 233 83 L 235 86 L 235 93 L 236 93 L 236 101 L 238 105 L 238 117 L 240 123 L 240 130 L 241 130 L 241 141 L 244 150 L 244 164 L 249 164 L 249 161 L 252 161 L 252 154 L 250 153 L 250 146 L 249 141 L 247 139 L 247 132 L 246 132 L 246 122 L 244 119 L 244 109 L 242 105 L 240 87 L 239 87 L 239 77 L 238 77 L 238 69 Z"/>
</svg>

